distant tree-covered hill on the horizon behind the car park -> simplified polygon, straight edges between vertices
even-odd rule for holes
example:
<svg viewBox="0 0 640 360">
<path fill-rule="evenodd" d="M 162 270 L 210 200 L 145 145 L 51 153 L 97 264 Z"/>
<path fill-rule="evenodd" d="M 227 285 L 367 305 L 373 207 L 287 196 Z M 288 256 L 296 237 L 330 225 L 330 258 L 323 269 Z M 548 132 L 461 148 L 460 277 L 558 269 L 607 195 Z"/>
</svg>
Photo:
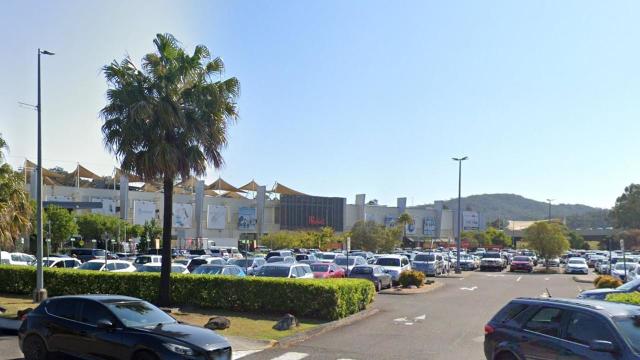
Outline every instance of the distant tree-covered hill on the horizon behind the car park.
<svg viewBox="0 0 640 360">
<path fill-rule="evenodd" d="M 457 209 L 458 199 L 443 201 L 449 209 Z M 462 198 L 462 208 L 481 214 L 485 221 L 540 220 L 549 216 L 549 204 L 516 194 L 482 194 Z M 609 226 L 608 210 L 582 204 L 552 204 L 552 218 L 566 218 L 567 225 L 576 227 Z"/>
</svg>

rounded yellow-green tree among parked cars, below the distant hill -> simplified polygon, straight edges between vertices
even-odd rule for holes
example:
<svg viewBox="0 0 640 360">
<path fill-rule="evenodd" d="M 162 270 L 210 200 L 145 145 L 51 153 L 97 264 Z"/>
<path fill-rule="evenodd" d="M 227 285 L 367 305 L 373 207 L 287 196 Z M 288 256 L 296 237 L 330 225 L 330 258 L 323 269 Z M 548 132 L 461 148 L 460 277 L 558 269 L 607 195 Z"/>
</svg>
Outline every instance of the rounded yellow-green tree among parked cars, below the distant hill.
<svg viewBox="0 0 640 360">
<path fill-rule="evenodd" d="M 544 259 L 558 257 L 569 249 L 569 240 L 556 223 L 537 222 L 525 230 L 524 239 Z"/>
</svg>

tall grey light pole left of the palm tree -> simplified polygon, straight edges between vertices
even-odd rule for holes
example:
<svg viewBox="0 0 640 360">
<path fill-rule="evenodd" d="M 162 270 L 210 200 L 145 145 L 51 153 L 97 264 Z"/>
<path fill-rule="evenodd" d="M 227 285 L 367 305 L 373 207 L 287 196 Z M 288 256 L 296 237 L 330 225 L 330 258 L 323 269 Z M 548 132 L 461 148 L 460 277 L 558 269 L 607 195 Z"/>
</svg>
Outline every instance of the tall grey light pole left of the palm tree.
<svg viewBox="0 0 640 360">
<path fill-rule="evenodd" d="M 37 252 L 36 252 L 36 289 L 33 293 L 33 301 L 41 302 L 47 298 L 47 290 L 44 288 L 44 274 L 42 272 L 42 99 L 40 96 L 40 55 L 54 55 L 47 50 L 38 48 L 38 168 L 36 179 L 36 202 L 37 202 Z"/>
</svg>

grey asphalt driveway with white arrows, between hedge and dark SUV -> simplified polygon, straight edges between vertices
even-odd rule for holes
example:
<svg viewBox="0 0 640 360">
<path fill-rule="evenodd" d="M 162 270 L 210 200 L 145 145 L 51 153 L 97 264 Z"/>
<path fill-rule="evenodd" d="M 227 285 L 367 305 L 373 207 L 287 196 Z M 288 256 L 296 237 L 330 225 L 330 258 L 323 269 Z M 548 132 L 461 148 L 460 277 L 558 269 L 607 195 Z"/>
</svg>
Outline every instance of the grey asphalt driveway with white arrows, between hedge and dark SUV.
<svg viewBox="0 0 640 360">
<path fill-rule="evenodd" d="M 257 353 L 246 360 L 484 359 L 486 322 L 515 297 L 574 298 L 588 284 L 564 274 L 473 272 L 441 278 L 426 294 L 378 295 L 380 311 L 360 322 L 292 347 Z M 15 336 L 0 334 L 0 359 L 22 359 Z"/>
</svg>

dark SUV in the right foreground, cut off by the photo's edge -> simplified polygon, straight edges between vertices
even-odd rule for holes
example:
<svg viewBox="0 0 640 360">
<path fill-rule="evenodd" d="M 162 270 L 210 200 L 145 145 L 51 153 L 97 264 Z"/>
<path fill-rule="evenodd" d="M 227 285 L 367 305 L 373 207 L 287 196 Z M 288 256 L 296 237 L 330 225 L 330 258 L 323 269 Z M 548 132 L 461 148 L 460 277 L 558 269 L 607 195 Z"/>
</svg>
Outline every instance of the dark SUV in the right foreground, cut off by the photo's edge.
<svg viewBox="0 0 640 360">
<path fill-rule="evenodd" d="M 640 359 L 640 307 L 518 298 L 484 327 L 488 360 Z"/>
</svg>

